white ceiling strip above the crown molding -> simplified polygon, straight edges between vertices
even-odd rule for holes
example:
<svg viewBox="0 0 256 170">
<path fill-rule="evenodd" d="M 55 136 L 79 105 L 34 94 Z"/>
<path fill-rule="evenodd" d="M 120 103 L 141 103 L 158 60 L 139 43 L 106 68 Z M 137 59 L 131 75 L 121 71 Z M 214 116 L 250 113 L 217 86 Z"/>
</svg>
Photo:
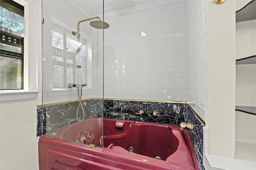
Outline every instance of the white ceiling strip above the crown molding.
<svg viewBox="0 0 256 170">
<path fill-rule="evenodd" d="M 132 8 L 134 6 L 142 6 L 143 4 L 156 1 L 160 0 L 104 0 L 104 13 Z M 75 0 L 75 2 L 91 16 L 102 14 L 103 0 Z"/>
</svg>

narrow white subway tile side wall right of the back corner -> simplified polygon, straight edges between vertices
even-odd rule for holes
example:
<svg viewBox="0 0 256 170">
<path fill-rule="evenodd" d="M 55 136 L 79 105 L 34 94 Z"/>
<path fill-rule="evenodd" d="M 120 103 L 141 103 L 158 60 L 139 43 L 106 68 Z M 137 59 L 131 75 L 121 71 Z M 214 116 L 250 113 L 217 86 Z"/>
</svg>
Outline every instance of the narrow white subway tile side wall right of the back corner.
<svg viewBox="0 0 256 170">
<path fill-rule="evenodd" d="M 206 1 L 187 3 L 186 101 L 205 120 L 207 102 Z"/>
</svg>

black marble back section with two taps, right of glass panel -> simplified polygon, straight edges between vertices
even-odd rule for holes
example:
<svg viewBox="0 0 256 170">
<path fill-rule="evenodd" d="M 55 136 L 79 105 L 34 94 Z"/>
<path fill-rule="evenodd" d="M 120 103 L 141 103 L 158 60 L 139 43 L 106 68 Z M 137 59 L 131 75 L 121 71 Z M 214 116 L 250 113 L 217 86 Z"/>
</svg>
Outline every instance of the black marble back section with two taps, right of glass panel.
<svg viewBox="0 0 256 170">
<path fill-rule="evenodd" d="M 186 104 L 160 102 L 105 100 L 104 117 L 149 123 L 180 125 L 181 122 L 185 121 L 185 105 Z M 143 111 L 144 113 L 137 114 L 140 111 Z M 156 115 L 153 115 L 154 111 L 157 112 Z"/>
</svg>

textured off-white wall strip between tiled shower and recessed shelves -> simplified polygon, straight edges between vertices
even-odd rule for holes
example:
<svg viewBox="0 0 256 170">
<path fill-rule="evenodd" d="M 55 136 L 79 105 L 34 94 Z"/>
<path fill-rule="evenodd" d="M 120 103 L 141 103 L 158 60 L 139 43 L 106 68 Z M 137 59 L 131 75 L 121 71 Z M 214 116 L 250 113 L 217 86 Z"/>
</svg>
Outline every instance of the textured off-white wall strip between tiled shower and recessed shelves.
<svg viewBox="0 0 256 170">
<path fill-rule="evenodd" d="M 205 153 L 234 158 L 236 2 L 207 1 Z M 227 124 L 228 123 L 228 124 Z"/>
</svg>

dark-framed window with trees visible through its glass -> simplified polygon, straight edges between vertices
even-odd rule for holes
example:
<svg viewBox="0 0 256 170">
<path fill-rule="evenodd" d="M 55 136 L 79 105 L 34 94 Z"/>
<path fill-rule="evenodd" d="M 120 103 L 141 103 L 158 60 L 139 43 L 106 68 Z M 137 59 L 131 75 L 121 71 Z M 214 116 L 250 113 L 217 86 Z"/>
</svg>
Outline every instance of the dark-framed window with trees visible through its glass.
<svg viewBox="0 0 256 170">
<path fill-rule="evenodd" d="M 0 90 L 23 89 L 24 6 L 0 0 Z"/>
</svg>

